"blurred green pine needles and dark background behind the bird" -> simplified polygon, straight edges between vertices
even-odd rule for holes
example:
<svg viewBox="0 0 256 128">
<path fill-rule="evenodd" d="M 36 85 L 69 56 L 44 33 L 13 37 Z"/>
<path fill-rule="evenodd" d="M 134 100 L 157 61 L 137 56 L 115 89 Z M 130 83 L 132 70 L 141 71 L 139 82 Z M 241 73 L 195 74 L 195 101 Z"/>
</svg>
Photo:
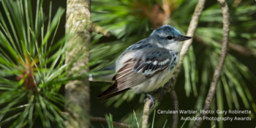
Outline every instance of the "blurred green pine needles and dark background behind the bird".
<svg viewBox="0 0 256 128">
<path fill-rule="evenodd" d="M 36 1 L 31 1 L 31 10 L 37 10 L 37 4 Z M 95 43 L 90 49 L 102 49 L 91 53 L 91 61 L 100 61 L 100 63 L 92 64 L 90 69 L 93 72 L 97 72 L 102 67 L 112 64 L 129 45 L 148 37 L 154 29 L 162 25 L 169 24 L 174 26 L 181 31 L 181 34 L 186 35 L 196 4 L 196 0 L 91 0 L 91 20 L 104 29 L 109 30 L 111 36 L 102 37 L 102 35 L 93 34 L 92 38 Z M 256 3 L 255 1 L 227 0 L 227 4 L 230 8 L 230 42 L 211 110 L 251 110 L 252 113 L 249 115 L 215 113 L 208 114 L 208 116 L 249 116 L 252 120 L 203 121 L 201 127 L 213 127 L 214 125 L 216 127 L 255 127 Z M 59 7 L 65 10 L 67 2 L 63 0 L 52 1 L 52 19 Z M 47 17 L 50 15 L 49 10 L 50 1 L 43 1 L 42 11 Z M 2 14 L 1 18 L 7 19 L 1 2 L 0 11 Z M 35 14 L 33 13 L 33 15 Z M 64 12 L 59 21 L 59 27 L 56 29 L 53 44 L 64 37 L 65 18 Z M 43 21 L 45 22 L 42 22 L 42 24 L 45 23 L 45 26 L 47 26 L 48 19 Z M 3 31 L 2 28 L 0 30 Z M 214 69 L 217 67 L 221 46 L 222 10 L 217 1 L 206 1 L 195 37 L 193 38 L 192 47 L 189 48 L 189 52 L 184 58 L 183 67 L 178 75 L 175 87 L 178 95 L 179 110 L 200 111 L 203 108 Z M 4 53 L 4 50 L 1 50 L 1 52 Z M 15 80 L 15 75 L 1 75 L 1 78 Z M 62 86 L 58 86 L 59 89 L 56 92 L 64 96 L 64 84 L 59 84 Z M 146 98 L 144 94 L 132 94 L 127 91 L 125 94 L 101 103 L 101 99 L 96 99 L 96 97 L 102 91 L 108 89 L 110 85 L 111 83 L 90 82 L 91 116 L 104 117 L 105 114 L 111 113 L 113 121 L 128 124 L 129 115 L 135 111 L 140 121 L 143 114 L 143 99 Z M 4 98 L 4 89 L 1 89 L 1 92 L 3 94 L 0 97 Z M 9 105 L 9 102 L 8 100 L 2 102 L 0 104 L 1 108 Z M 57 107 L 64 110 L 61 105 L 57 105 Z M 150 127 L 153 121 L 154 110 L 173 110 L 170 94 L 166 94 L 160 102 L 156 103 L 154 109 L 151 110 L 149 118 Z M 9 114 L 12 115 L 12 113 Z M 180 113 L 178 116 L 179 118 L 181 116 L 186 118 L 187 116 L 197 115 Z M 4 116 L 4 118 L 7 117 Z M 165 121 L 167 121 L 165 127 L 170 127 L 172 124 L 172 114 L 156 113 L 154 127 L 163 127 Z M 2 127 L 13 126 L 12 122 L 10 119 Z M 34 123 L 34 127 L 42 127 L 40 122 L 41 120 L 37 120 Z M 52 127 L 57 126 L 56 123 L 50 124 Z M 108 127 L 107 124 L 97 122 L 92 124 L 94 127 L 102 127 L 102 125 Z M 184 121 L 179 119 L 178 127 L 181 127 L 182 124 L 184 124 Z M 193 121 L 187 121 L 184 127 L 192 127 L 193 124 Z M 27 125 L 25 124 L 24 126 Z"/>
</svg>

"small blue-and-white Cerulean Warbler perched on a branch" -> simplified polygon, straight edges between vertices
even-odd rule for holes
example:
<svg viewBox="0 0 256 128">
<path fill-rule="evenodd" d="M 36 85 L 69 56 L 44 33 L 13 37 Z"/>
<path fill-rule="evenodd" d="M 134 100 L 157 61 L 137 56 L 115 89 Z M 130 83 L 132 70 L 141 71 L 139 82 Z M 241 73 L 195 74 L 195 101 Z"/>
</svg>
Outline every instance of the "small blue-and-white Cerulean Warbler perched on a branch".
<svg viewBox="0 0 256 128">
<path fill-rule="evenodd" d="M 114 82 L 97 98 L 105 97 L 102 99 L 104 102 L 131 89 L 137 94 L 146 94 L 153 102 L 151 108 L 154 108 L 154 97 L 147 92 L 160 91 L 164 94 L 159 88 L 170 80 L 177 67 L 182 41 L 191 38 L 169 25 L 154 30 L 148 38 L 129 46 L 115 64 L 103 68 L 116 71 L 115 74 L 99 78 L 89 76 L 92 81 Z"/>
</svg>

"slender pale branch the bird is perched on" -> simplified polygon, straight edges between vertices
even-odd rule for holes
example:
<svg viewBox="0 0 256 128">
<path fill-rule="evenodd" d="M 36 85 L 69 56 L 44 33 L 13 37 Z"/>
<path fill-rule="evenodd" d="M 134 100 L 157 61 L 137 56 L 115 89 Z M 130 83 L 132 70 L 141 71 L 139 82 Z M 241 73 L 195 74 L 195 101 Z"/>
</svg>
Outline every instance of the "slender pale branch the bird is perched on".
<svg viewBox="0 0 256 128">
<path fill-rule="evenodd" d="M 200 16 L 202 14 L 205 2 L 206 2 L 206 0 L 199 0 L 197 3 L 197 6 L 195 7 L 195 12 L 192 16 L 192 20 L 190 21 L 189 29 L 187 31 L 187 36 L 189 36 L 189 37 L 194 37 L 195 30 L 197 29 L 198 20 L 200 19 Z M 189 39 L 188 41 L 184 42 L 184 45 L 182 46 L 182 49 L 181 49 L 181 59 L 178 62 L 178 67 L 177 67 L 176 71 L 173 73 L 173 77 L 169 80 L 169 82 L 162 89 L 163 91 L 165 91 L 165 93 L 167 93 L 168 91 L 170 91 L 172 89 L 174 90 L 176 78 L 178 77 L 178 73 L 180 72 L 182 61 L 184 59 L 184 56 L 187 54 L 187 50 L 189 50 L 189 46 L 191 44 L 192 44 L 192 39 Z M 173 92 L 173 91 L 171 91 L 171 92 Z M 159 92 L 155 93 L 153 95 L 153 97 L 154 97 L 154 99 L 157 100 L 159 97 L 161 97 L 161 94 Z M 176 99 L 173 99 L 173 105 L 177 103 L 177 107 L 178 107 L 178 101 Z M 149 106 L 151 105 L 151 103 L 152 103 L 152 101 L 150 99 L 148 99 L 146 101 L 143 112 L 147 112 L 147 111 L 149 112 L 149 108 L 150 108 Z M 149 114 L 143 113 L 143 123 L 145 123 L 145 124 L 143 124 L 143 126 L 148 125 L 148 117 L 146 118 L 146 116 L 149 116 Z M 145 120 L 147 119 L 147 121 L 144 121 L 144 118 L 145 118 Z M 176 121 L 178 121 L 178 119 L 173 118 L 173 122 L 175 122 L 174 123 L 175 125 L 178 124 L 178 122 L 176 122 Z"/>
</svg>

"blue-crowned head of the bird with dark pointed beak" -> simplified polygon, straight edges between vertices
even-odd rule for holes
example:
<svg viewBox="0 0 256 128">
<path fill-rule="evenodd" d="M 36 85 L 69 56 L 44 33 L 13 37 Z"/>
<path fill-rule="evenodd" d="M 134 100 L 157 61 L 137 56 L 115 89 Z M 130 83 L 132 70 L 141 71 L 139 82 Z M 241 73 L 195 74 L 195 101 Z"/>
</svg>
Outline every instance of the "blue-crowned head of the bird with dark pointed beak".
<svg viewBox="0 0 256 128">
<path fill-rule="evenodd" d="M 181 50 L 182 41 L 192 38 L 183 36 L 181 32 L 169 25 L 159 27 L 149 37 L 156 40 L 163 48 L 176 52 Z"/>
</svg>

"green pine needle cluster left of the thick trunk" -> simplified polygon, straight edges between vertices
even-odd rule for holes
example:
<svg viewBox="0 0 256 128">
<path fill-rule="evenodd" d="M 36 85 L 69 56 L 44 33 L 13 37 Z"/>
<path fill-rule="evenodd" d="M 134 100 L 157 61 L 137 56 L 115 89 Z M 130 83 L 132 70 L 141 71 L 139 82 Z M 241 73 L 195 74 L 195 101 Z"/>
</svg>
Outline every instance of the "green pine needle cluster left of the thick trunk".
<svg viewBox="0 0 256 128">
<path fill-rule="evenodd" d="M 0 13 L 0 125 L 12 121 L 11 127 L 32 127 L 39 117 L 44 127 L 50 127 L 50 121 L 64 127 L 66 116 L 57 106 L 63 107 L 64 97 L 57 91 L 67 67 L 61 50 L 65 48 L 65 39 L 53 45 L 64 9 L 59 8 L 53 19 L 49 18 L 45 29 L 42 1 L 37 1 L 36 18 L 30 0 L 1 1 L 1 5 L 4 13 Z M 60 49 L 55 52 L 56 48 Z M 17 80 L 10 79 L 13 77 Z"/>
</svg>

